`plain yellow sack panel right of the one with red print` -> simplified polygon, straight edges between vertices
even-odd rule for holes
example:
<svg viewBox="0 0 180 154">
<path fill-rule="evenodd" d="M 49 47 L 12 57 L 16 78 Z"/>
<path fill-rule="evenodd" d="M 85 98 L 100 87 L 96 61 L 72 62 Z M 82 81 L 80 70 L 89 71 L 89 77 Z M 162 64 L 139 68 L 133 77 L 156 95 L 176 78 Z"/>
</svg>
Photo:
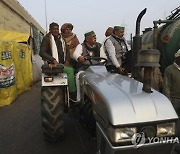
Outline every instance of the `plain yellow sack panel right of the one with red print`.
<svg viewBox="0 0 180 154">
<path fill-rule="evenodd" d="M 31 49 L 30 46 L 21 43 L 14 43 L 14 62 L 17 74 L 18 94 L 29 90 L 33 83 Z"/>
</svg>

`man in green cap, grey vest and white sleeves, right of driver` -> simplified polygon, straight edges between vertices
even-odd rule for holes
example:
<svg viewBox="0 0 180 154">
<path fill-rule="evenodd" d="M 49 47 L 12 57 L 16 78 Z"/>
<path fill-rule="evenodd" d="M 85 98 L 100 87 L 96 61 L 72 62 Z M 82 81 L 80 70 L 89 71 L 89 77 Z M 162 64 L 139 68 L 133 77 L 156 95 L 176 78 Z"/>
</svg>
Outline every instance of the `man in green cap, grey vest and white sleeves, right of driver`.
<svg viewBox="0 0 180 154">
<path fill-rule="evenodd" d="M 124 27 L 114 26 L 112 35 L 104 42 L 104 50 L 108 58 L 107 70 L 115 70 L 117 73 L 125 74 L 122 67 L 122 58 L 130 50 L 124 36 Z"/>
</svg>

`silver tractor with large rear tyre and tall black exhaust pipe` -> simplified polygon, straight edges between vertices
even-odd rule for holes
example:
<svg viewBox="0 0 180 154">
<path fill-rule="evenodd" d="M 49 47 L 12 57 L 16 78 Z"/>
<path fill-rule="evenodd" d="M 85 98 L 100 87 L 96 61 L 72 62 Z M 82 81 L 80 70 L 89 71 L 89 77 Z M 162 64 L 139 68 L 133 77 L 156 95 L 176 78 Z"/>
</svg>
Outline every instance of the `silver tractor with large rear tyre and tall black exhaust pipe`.
<svg viewBox="0 0 180 154">
<path fill-rule="evenodd" d="M 138 22 L 145 12 L 140 13 Z M 152 66 L 159 66 L 160 54 L 156 49 L 140 50 L 139 38 L 138 34 L 133 41 L 133 54 L 140 55 L 134 61 L 148 74 Z M 79 76 L 80 117 L 92 132 L 96 131 L 97 154 L 170 154 L 179 143 L 178 116 L 170 100 L 150 87 L 148 75 L 142 83 L 136 80 L 136 67 L 129 77 L 108 72 L 104 58 L 87 60 L 90 66 Z M 64 137 L 63 113 L 69 108 L 62 65 L 42 67 L 41 95 L 43 134 L 54 142 Z"/>
</svg>

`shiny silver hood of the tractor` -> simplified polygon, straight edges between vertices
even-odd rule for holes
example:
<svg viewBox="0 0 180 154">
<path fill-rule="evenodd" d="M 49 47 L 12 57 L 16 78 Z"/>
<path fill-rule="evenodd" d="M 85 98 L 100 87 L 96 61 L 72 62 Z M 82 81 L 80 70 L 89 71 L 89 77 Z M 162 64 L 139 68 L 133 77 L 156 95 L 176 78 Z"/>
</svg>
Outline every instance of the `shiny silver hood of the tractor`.
<svg viewBox="0 0 180 154">
<path fill-rule="evenodd" d="M 152 89 L 142 91 L 143 84 L 129 77 L 109 73 L 104 66 L 91 66 L 82 76 L 93 109 L 112 125 L 177 119 L 171 102 Z"/>
</svg>

